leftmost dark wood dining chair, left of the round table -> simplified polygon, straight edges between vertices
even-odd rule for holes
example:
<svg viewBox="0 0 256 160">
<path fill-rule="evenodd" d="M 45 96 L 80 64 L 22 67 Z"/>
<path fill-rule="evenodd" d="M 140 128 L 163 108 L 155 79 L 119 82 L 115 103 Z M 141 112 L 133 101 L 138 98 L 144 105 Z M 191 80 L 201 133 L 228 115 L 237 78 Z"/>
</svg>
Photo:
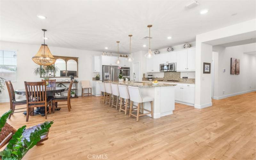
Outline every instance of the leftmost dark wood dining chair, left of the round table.
<svg viewBox="0 0 256 160">
<path fill-rule="evenodd" d="M 12 110 L 12 113 L 9 115 L 9 119 L 11 118 L 11 116 L 13 115 L 13 113 L 18 113 L 18 112 L 24 112 L 23 111 L 18 111 L 18 112 L 14 112 L 15 110 L 20 110 L 20 109 L 25 109 L 25 108 L 17 108 L 15 109 L 16 105 L 24 105 L 27 104 L 27 100 L 25 98 L 23 99 L 15 99 L 15 92 L 12 86 L 12 82 L 11 81 L 5 81 L 8 93 L 9 93 L 9 98 L 10 98 L 10 109 Z"/>
</svg>

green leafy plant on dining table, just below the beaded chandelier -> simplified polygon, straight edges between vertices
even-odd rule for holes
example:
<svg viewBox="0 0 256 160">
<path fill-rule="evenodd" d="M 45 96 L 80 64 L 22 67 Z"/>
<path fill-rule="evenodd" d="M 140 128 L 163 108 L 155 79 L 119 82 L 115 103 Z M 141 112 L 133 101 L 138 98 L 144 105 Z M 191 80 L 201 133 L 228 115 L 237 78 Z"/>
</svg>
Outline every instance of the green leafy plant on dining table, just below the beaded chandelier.
<svg viewBox="0 0 256 160">
<path fill-rule="evenodd" d="M 45 80 L 48 80 L 50 76 L 55 75 L 55 73 L 59 70 L 57 66 L 39 66 L 34 69 L 35 75 L 40 75 L 44 77 Z"/>
</svg>

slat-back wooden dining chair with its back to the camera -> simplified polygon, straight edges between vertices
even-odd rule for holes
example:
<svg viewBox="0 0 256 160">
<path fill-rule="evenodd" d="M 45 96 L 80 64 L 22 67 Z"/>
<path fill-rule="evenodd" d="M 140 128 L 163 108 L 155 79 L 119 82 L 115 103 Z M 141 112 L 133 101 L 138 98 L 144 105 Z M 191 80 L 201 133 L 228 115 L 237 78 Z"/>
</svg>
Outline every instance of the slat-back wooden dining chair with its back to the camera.
<svg viewBox="0 0 256 160">
<path fill-rule="evenodd" d="M 35 107 L 45 108 L 45 119 L 47 119 L 47 113 L 51 110 L 51 102 L 53 97 L 46 96 L 46 82 L 24 82 L 27 98 L 27 118 L 31 112 L 34 112 Z M 49 111 L 47 106 L 49 105 Z"/>
</svg>

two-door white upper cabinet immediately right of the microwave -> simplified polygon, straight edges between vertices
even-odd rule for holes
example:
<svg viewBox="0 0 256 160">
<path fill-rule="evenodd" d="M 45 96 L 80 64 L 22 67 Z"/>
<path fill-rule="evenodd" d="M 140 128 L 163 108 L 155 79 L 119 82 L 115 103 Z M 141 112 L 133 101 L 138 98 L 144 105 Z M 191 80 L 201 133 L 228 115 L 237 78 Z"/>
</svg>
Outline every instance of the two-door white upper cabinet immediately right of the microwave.
<svg viewBox="0 0 256 160">
<path fill-rule="evenodd" d="M 177 72 L 195 71 L 196 70 L 196 48 L 188 48 L 176 51 L 177 55 Z"/>
</svg>

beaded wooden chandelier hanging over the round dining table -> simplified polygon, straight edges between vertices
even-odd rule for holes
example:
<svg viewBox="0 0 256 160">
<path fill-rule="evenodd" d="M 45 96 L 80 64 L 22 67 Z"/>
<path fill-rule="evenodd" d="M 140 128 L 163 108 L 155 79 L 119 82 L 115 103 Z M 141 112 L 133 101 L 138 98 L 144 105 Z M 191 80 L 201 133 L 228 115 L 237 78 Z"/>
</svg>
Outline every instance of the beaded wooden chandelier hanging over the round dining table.
<svg viewBox="0 0 256 160">
<path fill-rule="evenodd" d="M 52 56 L 52 53 L 50 52 L 47 44 L 45 44 L 45 31 L 47 30 L 42 29 L 42 31 L 44 31 L 44 44 L 41 45 L 39 51 L 34 57 L 32 57 L 32 60 L 38 65 L 50 66 L 55 63 L 56 58 Z"/>
</svg>

